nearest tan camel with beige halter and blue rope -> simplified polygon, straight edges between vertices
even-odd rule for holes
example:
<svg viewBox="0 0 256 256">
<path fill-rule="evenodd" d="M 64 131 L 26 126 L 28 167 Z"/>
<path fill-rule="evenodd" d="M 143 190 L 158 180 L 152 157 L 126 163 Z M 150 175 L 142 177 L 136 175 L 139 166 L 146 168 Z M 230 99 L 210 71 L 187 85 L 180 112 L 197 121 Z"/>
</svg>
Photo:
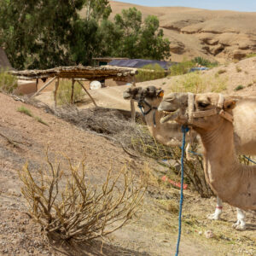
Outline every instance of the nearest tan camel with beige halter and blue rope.
<svg viewBox="0 0 256 256">
<path fill-rule="evenodd" d="M 168 113 L 162 122 L 175 119 L 201 136 L 205 176 L 216 195 L 231 206 L 253 211 L 256 210 L 256 166 L 241 165 L 236 153 L 256 151 L 252 143 L 256 137 L 255 107 L 256 98 L 237 101 L 236 97 L 224 98 L 217 93 L 187 96 L 172 93 L 159 106 L 160 111 Z"/>
</svg>

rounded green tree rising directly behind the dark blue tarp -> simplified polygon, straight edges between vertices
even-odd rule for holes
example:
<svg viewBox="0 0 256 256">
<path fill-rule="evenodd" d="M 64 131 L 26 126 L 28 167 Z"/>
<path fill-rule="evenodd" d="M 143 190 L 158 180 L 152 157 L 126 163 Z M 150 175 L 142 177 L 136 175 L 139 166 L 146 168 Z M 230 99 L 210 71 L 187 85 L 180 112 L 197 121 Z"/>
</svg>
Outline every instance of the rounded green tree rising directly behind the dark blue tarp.
<svg viewBox="0 0 256 256">
<path fill-rule="evenodd" d="M 113 24 L 102 25 L 102 33 L 106 55 L 155 60 L 170 57 L 170 42 L 159 29 L 157 17 L 149 15 L 143 22 L 136 8 L 123 9 Z"/>
</svg>

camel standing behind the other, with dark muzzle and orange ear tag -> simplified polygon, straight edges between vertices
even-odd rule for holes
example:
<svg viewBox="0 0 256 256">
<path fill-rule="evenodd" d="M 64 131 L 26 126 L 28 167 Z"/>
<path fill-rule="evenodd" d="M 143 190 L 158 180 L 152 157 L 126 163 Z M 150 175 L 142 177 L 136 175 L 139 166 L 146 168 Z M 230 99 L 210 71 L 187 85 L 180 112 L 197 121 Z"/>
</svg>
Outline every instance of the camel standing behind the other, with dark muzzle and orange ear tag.
<svg viewBox="0 0 256 256">
<path fill-rule="evenodd" d="M 181 125 L 177 123 L 165 122 L 160 123 L 160 119 L 163 119 L 164 113 L 157 110 L 160 102 L 163 100 L 164 91 L 154 86 L 148 86 L 147 88 L 141 87 L 129 87 L 124 91 L 123 97 L 125 100 L 135 100 L 143 108 L 145 120 L 148 125 L 150 134 L 159 142 L 166 146 L 181 146 L 182 132 Z M 198 139 L 197 139 L 198 140 Z M 190 136 L 190 143 L 196 141 L 195 133 Z M 188 154 L 189 144 L 186 148 Z M 223 211 L 223 203 L 217 196 L 217 206 L 215 212 L 208 216 L 209 219 L 220 219 Z M 237 230 L 245 230 L 245 215 L 239 208 L 237 208 L 237 222 L 234 225 Z"/>
</svg>

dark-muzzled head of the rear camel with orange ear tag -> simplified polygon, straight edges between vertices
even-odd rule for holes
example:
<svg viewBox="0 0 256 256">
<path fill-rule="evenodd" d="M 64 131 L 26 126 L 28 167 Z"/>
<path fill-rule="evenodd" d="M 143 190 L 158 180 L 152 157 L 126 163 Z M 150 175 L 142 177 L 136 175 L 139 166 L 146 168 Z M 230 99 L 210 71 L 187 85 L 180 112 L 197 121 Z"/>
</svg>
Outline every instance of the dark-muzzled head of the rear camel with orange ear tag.
<svg viewBox="0 0 256 256">
<path fill-rule="evenodd" d="M 158 107 L 164 96 L 164 90 L 156 88 L 154 86 L 142 87 L 130 87 L 123 93 L 125 100 L 135 100 L 140 104 L 148 102 L 151 106 Z"/>
</svg>

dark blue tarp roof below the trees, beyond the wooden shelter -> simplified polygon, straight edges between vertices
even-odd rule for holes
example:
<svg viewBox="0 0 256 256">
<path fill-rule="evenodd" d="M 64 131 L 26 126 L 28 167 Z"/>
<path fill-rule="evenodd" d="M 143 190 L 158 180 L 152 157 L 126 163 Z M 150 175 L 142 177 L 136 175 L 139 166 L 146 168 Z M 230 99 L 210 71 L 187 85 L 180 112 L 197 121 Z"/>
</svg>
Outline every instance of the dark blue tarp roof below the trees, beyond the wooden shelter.
<svg viewBox="0 0 256 256">
<path fill-rule="evenodd" d="M 144 67 L 148 64 L 151 64 L 151 65 L 159 64 L 160 67 L 163 67 L 164 69 L 167 70 L 169 67 L 176 64 L 176 62 L 133 59 L 133 60 L 113 60 L 108 63 L 108 65 L 110 66 L 117 66 L 117 67 Z"/>
</svg>

